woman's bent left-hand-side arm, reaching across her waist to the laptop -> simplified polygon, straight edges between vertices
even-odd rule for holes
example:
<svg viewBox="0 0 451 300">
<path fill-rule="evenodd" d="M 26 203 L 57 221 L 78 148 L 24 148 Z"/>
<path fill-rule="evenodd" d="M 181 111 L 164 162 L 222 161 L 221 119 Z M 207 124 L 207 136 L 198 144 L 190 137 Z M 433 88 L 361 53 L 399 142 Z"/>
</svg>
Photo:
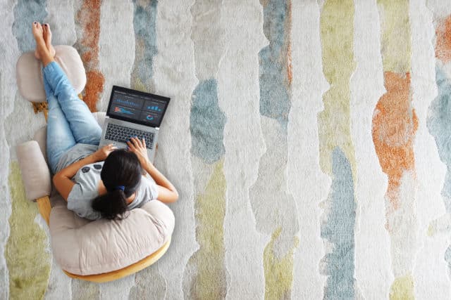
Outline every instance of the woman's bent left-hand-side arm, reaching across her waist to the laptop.
<svg viewBox="0 0 451 300">
<path fill-rule="evenodd" d="M 79 160 L 78 162 L 74 162 L 73 164 L 70 164 L 68 167 L 62 169 L 58 173 L 56 173 L 53 177 L 53 182 L 55 185 L 56 190 L 58 190 L 58 193 L 64 198 L 64 200 L 68 200 L 68 196 L 70 191 L 73 188 L 73 181 L 70 180 L 70 178 L 73 178 L 75 174 L 77 174 L 77 171 L 85 166 L 86 164 L 92 164 L 94 162 L 100 162 L 102 160 L 105 160 L 106 157 L 110 154 L 111 151 L 114 150 L 113 144 L 106 145 L 103 148 L 100 148 L 96 152 L 88 155 L 84 159 Z"/>
</svg>

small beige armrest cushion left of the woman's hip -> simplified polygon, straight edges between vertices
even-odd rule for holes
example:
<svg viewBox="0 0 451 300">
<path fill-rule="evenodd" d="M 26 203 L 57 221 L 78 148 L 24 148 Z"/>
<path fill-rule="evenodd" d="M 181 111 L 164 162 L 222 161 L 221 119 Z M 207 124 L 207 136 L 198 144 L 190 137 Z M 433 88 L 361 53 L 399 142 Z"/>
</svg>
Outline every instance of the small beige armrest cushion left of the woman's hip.
<svg viewBox="0 0 451 300">
<path fill-rule="evenodd" d="M 37 141 L 18 145 L 16 153 L 27 199 L 35 200 L 50 195 L 50 171 Z"/>
</svg>

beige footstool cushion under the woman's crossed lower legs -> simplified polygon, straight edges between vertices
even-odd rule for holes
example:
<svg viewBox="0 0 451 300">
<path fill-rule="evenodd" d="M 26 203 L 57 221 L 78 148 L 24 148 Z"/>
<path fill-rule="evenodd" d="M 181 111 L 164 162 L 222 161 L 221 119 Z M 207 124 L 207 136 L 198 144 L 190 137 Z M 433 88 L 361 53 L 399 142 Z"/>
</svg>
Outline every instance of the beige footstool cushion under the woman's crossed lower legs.
<svg viewBox="0 0 451 300">
<path fill-rule="evenodd" d="M 85 67 L 80 55 L 71 46 L 55 46 L 55 61 L 66 73 L 77 93 L 81 93 L 86 85 Z M 45 102 L 42 63 L 35 58 L 34 52 L 23 53 L 16 65 L 17 85 L 23 98 L 32 102 Z"/>
</svg>

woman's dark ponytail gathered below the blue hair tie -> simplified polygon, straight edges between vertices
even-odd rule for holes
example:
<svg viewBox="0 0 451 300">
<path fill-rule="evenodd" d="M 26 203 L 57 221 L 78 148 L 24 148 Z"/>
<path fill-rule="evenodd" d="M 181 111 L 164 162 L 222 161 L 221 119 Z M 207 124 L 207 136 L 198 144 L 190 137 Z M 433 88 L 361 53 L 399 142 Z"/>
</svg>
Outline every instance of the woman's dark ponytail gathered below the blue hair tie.
<svg viewBox="0 0 451 300">
<path fill-rule="evenodd" d="M 113 190 L 92 200 L 92 208 L 99 211 L 102 218 L 122 220 L 127 217 L 127 197 L 123 190 Z"/>
</svg>

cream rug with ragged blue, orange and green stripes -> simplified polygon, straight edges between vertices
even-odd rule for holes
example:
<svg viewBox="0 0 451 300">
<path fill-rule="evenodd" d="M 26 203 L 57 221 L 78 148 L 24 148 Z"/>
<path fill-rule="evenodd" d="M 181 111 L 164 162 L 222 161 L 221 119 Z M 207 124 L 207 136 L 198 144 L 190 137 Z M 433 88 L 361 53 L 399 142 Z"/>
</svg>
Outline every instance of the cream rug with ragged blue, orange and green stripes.
<svg viewBox="0 0 451 300">
<path fill-rule="evenodd" d="M 450 299 L 449 1 L 6 0 L 0 20 L 0 299 Z M 113 84 L 172 99 L 175 231 L 135 275 L 68 278 L 25 199 L 34 20 L 80 53 L 93 112 Z"/>
</svg>

